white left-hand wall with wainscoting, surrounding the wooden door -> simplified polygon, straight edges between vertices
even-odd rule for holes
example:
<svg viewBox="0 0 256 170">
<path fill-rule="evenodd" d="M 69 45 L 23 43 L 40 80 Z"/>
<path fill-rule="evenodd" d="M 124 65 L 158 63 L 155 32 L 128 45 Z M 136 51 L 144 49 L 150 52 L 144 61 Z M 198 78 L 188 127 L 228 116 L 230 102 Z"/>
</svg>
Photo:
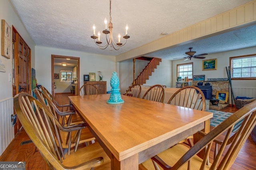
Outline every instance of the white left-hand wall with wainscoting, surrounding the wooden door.
<svg viewBox="0 0 256 170">
<path fill-rule="evenodd" d="M 20 36 L 22 36 L 24 41 L 28 44 L 32 55 L 31 67 L 34 68 L 35 43 L 24 28 L 24 25 L 12 8 L 10 2 L 8 0 L 1 0 L 0 3 L 0 18 L 4 19 L 11 28 L 13 25 L 19 32 Z M 0 27 L 0 29 L 2 32 L 2 27 Z M 2 47 L 1 41 L 0 47 Z M 12 51 L 10 52 L 12 56 Z M 1 55 L 0 59 L 4 61 L 6 67 L 6 72 L 0 72 L 0 155 L 2 155 L 14 138 L 14 127 L 12 127 L 11 123 L 11 115 L 13 114 L 12 81 L 9 81 L 9 74 L 12 76 L 12 57 L 7 59 Z"/>
</svg>

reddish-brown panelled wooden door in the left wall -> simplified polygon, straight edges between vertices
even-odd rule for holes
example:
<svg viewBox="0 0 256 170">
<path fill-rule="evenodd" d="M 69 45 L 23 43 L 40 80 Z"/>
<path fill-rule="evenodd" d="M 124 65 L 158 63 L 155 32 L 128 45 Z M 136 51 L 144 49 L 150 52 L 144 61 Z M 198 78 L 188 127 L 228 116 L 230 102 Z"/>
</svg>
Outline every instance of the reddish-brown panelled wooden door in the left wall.
<svg viewBox="0 0 256 170">
<path fill-rule="evenodd" d="M 30 58 L 31 49 L 28 47 L 26 42 L 18 34 L 16 29 L 13 27 L 12 31 L 12 44 L 13 44 L 13 96 L 18 93 L 26 92 L 31 94 L 31 76 L 30 76 Z M 18 118 L 17 118 L 18 119 Z M 20 127 L 20 121 L 16 121 L 14 125 L 14 134 L 16 134 Z"/>
</svg>

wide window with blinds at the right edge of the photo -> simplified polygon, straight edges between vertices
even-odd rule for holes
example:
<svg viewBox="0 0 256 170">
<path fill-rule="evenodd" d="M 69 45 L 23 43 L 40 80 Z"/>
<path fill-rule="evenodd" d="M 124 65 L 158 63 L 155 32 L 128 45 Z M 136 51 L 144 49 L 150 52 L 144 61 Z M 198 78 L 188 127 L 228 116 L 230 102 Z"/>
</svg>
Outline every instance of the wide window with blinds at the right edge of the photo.
<svg viewBox="0 0 256 170">
<path fill-rule="evenodd" d="M 230 57 L 232 79 L 256 79 L 256 54 Z"/>
</svg>

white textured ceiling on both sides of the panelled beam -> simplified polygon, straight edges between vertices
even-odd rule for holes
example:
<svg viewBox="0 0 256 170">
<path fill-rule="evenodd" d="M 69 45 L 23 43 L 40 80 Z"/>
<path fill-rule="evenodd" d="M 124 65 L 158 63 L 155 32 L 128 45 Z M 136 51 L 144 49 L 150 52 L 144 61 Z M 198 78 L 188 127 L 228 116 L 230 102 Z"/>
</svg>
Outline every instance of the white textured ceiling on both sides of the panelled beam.
<svg viewBox="0 0 256 170">
<path fill-rule="evenodd" d="M 99 49 L 90 38 L 93 24 L 96 32 L 101 32 L 104 18 L 109 21 L 108 0 L 10 0 L 36 45 L 104 55 L 124 53 L 162 38 L 162 32 L 176 32 L 250 1 L 113 0 L 113 35 L 116 40 L 118 33 L 124 35 L 128 24 L 130 39 L 118 51 L 109 51 Z M 184 53 L 188 47 L 194 47 L 195 55 L 198 55 L 256 46 L 255 32 L 256 26 L 250 26 L 148 56 L 173 59 L 186 57 Z"/>
</svg>

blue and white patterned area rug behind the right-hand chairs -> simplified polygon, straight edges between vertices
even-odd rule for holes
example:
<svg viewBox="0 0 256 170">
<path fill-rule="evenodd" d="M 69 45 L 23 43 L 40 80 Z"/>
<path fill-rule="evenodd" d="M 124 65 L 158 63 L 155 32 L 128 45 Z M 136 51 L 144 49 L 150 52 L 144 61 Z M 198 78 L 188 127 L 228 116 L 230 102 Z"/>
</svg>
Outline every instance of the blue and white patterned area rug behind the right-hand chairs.
<svg viewBox="0 0 256 170">
<path fill-rule="evenodd" d="M 230 115 L 233 114 L 233 113 L 229 113 L 229 112 L 216 111 L 216 110 L 212 110 L 212 109 L 209 109 L 208 112 L 213 113 L 213 117 L 210 119 L 210 126 L 212 126 L 212 127 L 218 126 L 220 123 L 222 123 L 222 121 L 224 121 Z M 236 132 L 239 129 L 239 127 L 241 126 L 241 124 L 242 124 L 242 121 L 239 121 L 234 126 L 232 132 Z"/>
</svg>

